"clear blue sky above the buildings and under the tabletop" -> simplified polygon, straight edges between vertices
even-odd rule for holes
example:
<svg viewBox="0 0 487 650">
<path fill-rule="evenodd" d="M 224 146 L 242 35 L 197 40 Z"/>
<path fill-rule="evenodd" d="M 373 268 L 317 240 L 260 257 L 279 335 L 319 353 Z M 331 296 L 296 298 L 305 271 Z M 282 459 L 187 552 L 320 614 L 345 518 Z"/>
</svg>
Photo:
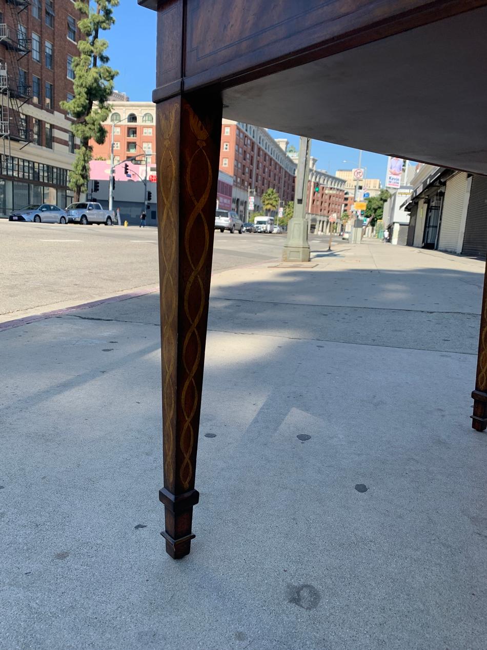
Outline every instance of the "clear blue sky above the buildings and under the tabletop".
<svg viewBox="0 0 487 650">
<path fill-rule="evenodd" d="M 106 37 L 110 42 L 110 63 L 119 71 L 115 88 L 126 92 L 132 101 L 150 101 L 155 86 L 156 14 L 138 6 L 136 0 L 121 0 L 114 9 L 114 16 L 116 24 Z M 287 137 L 299 148 L 298 136 L 271 129 L 269 132 L 275 138 Z M 351 169 L 358 162 L 357 149 L 319 140 L 313 140 L 311 153 L 318 158 L 318 168 L 332 174 L 337 169 Z M 369 151 L 362 155 L 362 166 L 367 168 L 368 178 L 379 178 L 384 183 L 386 164 L 386 156 Z"/>
</svg>

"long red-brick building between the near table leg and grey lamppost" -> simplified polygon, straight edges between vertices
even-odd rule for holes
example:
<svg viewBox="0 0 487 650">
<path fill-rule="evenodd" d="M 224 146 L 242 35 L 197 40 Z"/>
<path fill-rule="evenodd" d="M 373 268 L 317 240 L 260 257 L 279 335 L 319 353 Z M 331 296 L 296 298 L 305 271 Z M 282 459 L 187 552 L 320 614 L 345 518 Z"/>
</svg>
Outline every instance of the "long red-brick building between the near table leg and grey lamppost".
<svg viewBox="0 0 487 650">
<path fill-rule="evenodd" d="M 233 175 L 232 207 L 245 220 L 249 194 L 255 211 L 262 209 L 262 194 L 270 187 L 287 203 L 294 198 L 296 164 L 267 129 L 222 120 L 219 168 Z"/>
</svg>

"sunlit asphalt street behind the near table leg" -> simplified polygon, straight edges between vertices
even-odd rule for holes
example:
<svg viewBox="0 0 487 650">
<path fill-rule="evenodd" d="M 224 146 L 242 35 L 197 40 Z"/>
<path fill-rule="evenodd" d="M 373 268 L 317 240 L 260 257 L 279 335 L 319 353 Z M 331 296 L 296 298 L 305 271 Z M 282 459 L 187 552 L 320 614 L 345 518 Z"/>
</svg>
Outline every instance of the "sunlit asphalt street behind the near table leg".
<svg viewBox="0 0 487 650">
<path fill-rule="evenodd" d="M 285 235 L 215 233 L 214 273 L 279 259 Z M 158 283 L 154 227 L 0 220 L 0 322 Z"/>
</svg>

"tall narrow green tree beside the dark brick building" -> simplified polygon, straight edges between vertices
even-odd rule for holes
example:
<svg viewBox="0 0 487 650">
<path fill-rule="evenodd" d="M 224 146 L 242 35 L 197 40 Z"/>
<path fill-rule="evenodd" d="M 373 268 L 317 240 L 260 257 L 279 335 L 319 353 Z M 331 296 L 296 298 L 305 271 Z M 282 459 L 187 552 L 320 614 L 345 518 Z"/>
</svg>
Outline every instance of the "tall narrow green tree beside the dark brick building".
<svg viewBox="0 0 487 650">
<path fill-rule="evenodd" d="M 79 201 L 81 192 L 88 189 L 92 159 L 90 139 L 103 144 L 106 138 L 103 122 L 110 114 L 107 101 L 118 72 L 107 65 L 108 41 L 99 38 L 99 32 L 107 31 L 114 24 L 113 7 L 118 3 L 119 0 L 97 0 L 96 5 L 90 7 L 89 2 L 75 2 L 75 7 L 84 14 L 78 23 L 84 38 L 78 42 L 79 57 L 73 58 L 74 99 L 60 101 L 60 107 L 76 119 L 71 131 L 80 140 L 73 169 L 69 172 L 69 188 L 74 192 L 75 201 Z"/>
</svg>

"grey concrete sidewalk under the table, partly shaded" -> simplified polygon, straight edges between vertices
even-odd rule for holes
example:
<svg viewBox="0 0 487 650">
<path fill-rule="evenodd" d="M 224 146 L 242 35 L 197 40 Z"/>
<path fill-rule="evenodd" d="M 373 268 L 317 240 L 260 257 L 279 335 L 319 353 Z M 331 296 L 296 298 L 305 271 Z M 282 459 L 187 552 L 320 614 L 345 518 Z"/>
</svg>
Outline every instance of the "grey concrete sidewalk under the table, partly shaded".
<svg viewBox="0 0 487 650">
<path fill-rule="evenodd" d="M 180 562 L 156 294 L 0 332 L 1 648 L 484 650 L 484 264 L 313 247 L 214 278 Z"/>
</svg>

